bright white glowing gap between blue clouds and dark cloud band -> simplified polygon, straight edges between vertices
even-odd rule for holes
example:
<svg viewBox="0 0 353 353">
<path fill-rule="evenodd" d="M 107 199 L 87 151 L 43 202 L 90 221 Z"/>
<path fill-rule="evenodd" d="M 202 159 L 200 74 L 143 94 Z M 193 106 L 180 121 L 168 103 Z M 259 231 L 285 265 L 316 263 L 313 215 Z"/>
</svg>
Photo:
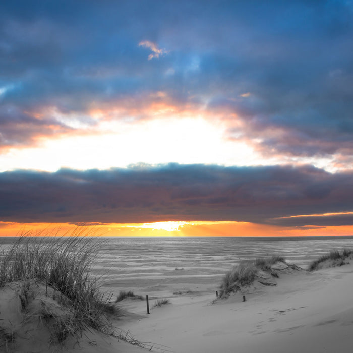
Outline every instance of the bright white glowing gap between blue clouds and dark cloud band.
<svg viewBox="0 0 353 353">
<path fill-rule="evenodd" d="M 154 111 L 156 116 L 159 112 Z M 67 124 L 73 127 L 79 123 L 71 119 Z M 94 131 L 84 127 L 83 133 L 77 136 L 63 135 L 57 139 L 38 137 L 35 147 L 11 148 L 0 155 L 0 171 L 14 170 L 19 166 L 45 171 L 56 171 L 61 167 L 81 170 L 92 167 L 108 169 L 112 166 L 125 168 L 142 161 L 155 165 L 170 160 L 187 164 L 271 163 L 272 159 L 263 160 L 246 142 L 227 140 L 224 136 L 225 127 L 214 125 L 201 116 L 157 117 L 139 124 L 103 120 Z M 123 153 L 127 149 L 129 153 Z"/>
</svg>

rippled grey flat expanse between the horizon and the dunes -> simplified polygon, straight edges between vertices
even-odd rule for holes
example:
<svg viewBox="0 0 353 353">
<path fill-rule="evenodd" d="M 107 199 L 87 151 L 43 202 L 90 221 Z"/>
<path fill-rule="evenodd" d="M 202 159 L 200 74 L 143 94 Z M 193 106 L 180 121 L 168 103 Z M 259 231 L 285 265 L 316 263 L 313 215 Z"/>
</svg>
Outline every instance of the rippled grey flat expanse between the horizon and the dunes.
<svg viewBox="0 0 353 353">
<path fill-rule="evenodd" d="M 1 253 L 15 240 L 0 237 Z M 167 295 L 175 288 L 214 290 L 232 267 L 273 254 L 306 269 L 331 250 L 353 249 L 353 236 L 99 237 L 99 244 L 93 274 L 99 276 L 104 291 Z"/>
</svg>

